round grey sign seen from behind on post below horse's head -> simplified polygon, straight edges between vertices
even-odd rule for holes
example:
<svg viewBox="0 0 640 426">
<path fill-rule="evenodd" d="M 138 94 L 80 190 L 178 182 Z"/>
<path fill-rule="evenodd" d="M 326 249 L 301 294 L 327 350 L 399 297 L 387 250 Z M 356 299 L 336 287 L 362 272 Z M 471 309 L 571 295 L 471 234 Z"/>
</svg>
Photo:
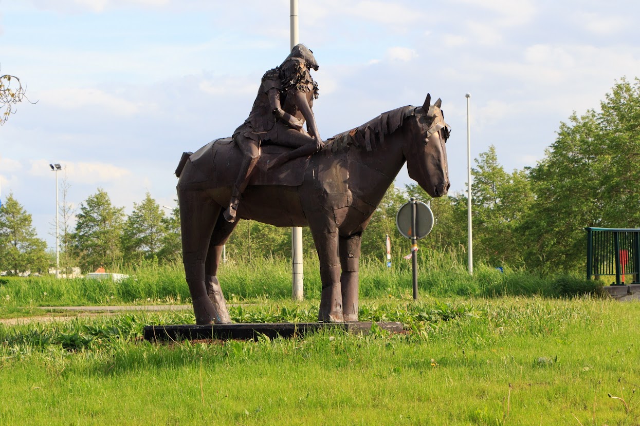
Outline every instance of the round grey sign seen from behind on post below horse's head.
<svg viewBox="0 0 640 426">
<path fill-rule="evenodd" d="M 413 270 L 413 300 L 418 300 L 418 240 L 424 238 L 433 229 L 433 212 L 427 204 L 414 197 L 404 204 L 396 215 L 398 231 L 411 240 L 411 259 Z"/>
</svg>

